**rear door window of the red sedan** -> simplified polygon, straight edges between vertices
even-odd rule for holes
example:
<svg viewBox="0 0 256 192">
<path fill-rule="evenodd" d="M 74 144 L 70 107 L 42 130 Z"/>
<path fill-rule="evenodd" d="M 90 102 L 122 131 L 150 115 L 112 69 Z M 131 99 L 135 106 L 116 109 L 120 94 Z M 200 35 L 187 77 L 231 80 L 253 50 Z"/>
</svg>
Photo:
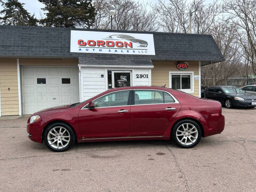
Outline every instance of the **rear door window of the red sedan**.
<svg viewBox="0 0 256 192">
<path fill-rule="evenodd" d="M 155 90 L 135 90 L 134 91 L 134 105 L 147 105 L 164 103 L 162 91 Z"/>
</svg>

